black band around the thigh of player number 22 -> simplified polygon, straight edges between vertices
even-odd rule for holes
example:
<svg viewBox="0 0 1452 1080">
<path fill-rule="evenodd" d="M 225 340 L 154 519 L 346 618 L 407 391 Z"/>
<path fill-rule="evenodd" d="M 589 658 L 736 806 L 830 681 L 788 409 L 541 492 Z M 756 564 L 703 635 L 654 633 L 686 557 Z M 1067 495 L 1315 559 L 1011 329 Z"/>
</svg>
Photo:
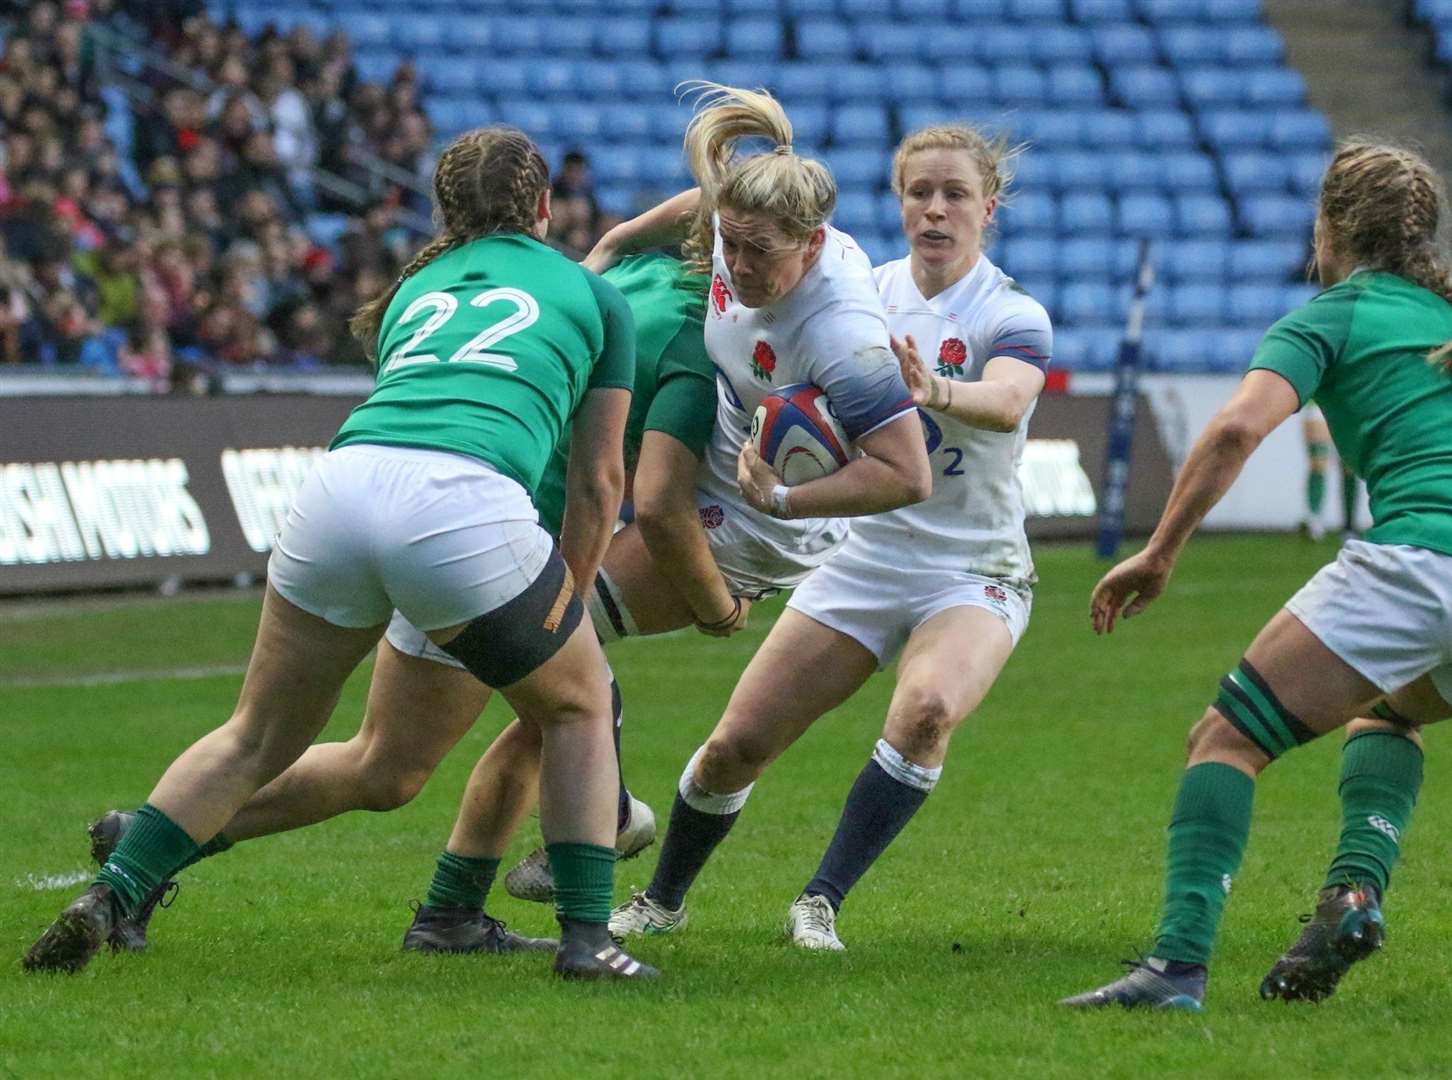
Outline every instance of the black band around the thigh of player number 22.
<svg viewBox="0 0 1452 1080">
<path fill-rule="evenodd" d="M 524 592 L 470 621 L 443 650 L 486 687 L 508 687 L 558 653 L 585 605 L 559 549 Z"/>
</svg>

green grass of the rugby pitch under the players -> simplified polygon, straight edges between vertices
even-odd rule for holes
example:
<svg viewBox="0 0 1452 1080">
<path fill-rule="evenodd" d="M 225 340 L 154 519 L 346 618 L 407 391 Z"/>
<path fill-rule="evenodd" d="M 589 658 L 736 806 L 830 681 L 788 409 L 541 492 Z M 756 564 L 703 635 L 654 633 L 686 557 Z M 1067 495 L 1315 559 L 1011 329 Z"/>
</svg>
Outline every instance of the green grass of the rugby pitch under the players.
<svg viewBox="0 0 1452 1080">
<path fill-rule="evenodd" d="M 1436 755 L 1388 948 L 1330 1002 L 1256 997 L 1334 843 L 1337 745 L 1323 740 L 1262 784 L 1208 1013 L 1054 1006 L 1147 945 L 1185 732 L 1331 550 L 1199 541 L 1169 597 L 1106 640 L 1086 618 L 1101 566 L 1080 547 L 1041 550 L 1029 633 L 937 793 L 844 909 L 844 955 L 791 951 L 778 928 L 878 733 L 890 676 L 758 785 L 691 896 L 691 926 L 639 946 L 666 973 L 650 987 L 562 986 L 539 957 L 398 951 L 405 904 L 424 893 L 465 777 L 505 720 L 491 707 L 404 810 L 240 845 L 187 871 L 147 955 L 102 955 L 78 977 L 0 964 L 0 1077 L 1446 1076 L 1452 867 L 1437 854 L 1452 816 Z M 245 662 L 256 617 L 256 595 L 0 610 L 0 958 L 17 958 L 77 891 L 33 883 L 87 870 L 84 823 L 142 800 L 228 714 L 240 682 L 45 681 L 229 669 Z M 662 816 L 767 623 L 727 643 L 678 634 L 614 649 L 627 769 Z M 364 679 L 350 682 L 328 737 L 351 732 Z M 514 854 L 534 840 L 520 836 Z M 620 867 L 621 897 L 653 861 L 655 849 Z M 491 910 L 550 929 L 546 909 L 502 890 Z"/>
</svg>

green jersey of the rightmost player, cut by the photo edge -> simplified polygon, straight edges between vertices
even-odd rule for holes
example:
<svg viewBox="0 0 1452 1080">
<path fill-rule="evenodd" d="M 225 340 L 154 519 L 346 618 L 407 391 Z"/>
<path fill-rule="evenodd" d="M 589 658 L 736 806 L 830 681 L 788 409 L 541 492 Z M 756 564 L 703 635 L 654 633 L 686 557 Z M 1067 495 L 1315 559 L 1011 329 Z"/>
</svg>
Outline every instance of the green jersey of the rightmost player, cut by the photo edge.
<svg viewBox="0 0 1452 1080">
<path fill-rule="evenodd" d="M 1372 543 L 1452 555 L 1452 376 L 1427 363 L 1449 340 L 1452 305 L 1361 270 L 1276 322 L 1250 361 L 1321 406 L 1366 482 Z"/>
</svg>

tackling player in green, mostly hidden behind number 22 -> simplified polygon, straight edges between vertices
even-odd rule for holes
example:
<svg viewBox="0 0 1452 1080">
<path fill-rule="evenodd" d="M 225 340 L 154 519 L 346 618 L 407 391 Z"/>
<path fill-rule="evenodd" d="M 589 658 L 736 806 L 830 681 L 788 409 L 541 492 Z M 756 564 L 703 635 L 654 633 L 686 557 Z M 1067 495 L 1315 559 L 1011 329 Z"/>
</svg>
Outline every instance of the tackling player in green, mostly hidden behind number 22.
<svg viewBox="0 0 1452 1080">
<path fill-rule="evenodd" d="M 716 379 L 701 335 L 706 277 L 677 258 L 643 254 L 604 274 L 620 289 L 636 324 L 636 372 L 624 431 L 627 480 L 636 521 L 616 533 L 603 565 L 614 575 L 621 605 L 643 633 L 691 626 L 726 637 L 746 624 L 751 582 L 723 575 L 713 557 L 722 530 L 697 515 L 696 473 L 714 430 Z M 540 524 L 559 536 L 565 521 L 569 443 L 560 441 L 534 489 Z M 620 585 L 626 584 L 626 588 Z M 597 589 L 598 594 L 598 589 Z M 598 595 L 591 595 L 597 621 Z M 433 775 L 489 700 L 489 688 L 395 613 L 379 645 L 367 710 L 357 735 L 318 743 L 250 798 L 228 822 L 211 855 L 238 840 L 298 829 L 350 810 L 393 810 Z M 616 732 L 619 737 L 619 695 Z M 617 746 L 619 752 L 619 746 Z M 449 952 L 511 952 L 550 946 L 523 938 L 484 913 L 484 901 L 520 822 L 534 806 L 540 732 L 511 723 L 475 768 L 459 825 L 439 858 L 425 903 L 415 913 L 405 948 Z M 91 826 L 99 862 L 129 829 L 134 814 L 110 811 Z M 649 807 L 620 784 L 616 848 L 639 854 L 655 838 Z M 531 900 L 553 899 L 547 852 L 521 864 Z M 164 888 L 164 885 L 161 887 Z M 147 922 L 161 888 L 132 919 L 118 923 L 113 942 L 145 948 Z"/>
</svg>

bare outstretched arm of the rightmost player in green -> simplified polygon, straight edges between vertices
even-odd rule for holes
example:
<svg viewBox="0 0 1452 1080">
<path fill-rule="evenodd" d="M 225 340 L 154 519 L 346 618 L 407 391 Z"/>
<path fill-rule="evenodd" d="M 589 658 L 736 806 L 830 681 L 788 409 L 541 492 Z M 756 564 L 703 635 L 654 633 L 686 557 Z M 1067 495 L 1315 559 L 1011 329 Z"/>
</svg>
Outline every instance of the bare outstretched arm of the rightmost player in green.
<svg viewBox="0 0 1452 1080">
<path fill-rule="evenodd" d="M 1284 376 L 1268 370 L 1246 375 L 1236 396 L 1191 447 L 1149 544 L 1095 588 L 1089 601 L 1095 633 L 1112 631 L 1121 613 L 1137 615 L 1165 591 L 1195 528 L 1230 491 L 1262 440 L 1300 408 L 1297 389 Z"/>
</svg>

